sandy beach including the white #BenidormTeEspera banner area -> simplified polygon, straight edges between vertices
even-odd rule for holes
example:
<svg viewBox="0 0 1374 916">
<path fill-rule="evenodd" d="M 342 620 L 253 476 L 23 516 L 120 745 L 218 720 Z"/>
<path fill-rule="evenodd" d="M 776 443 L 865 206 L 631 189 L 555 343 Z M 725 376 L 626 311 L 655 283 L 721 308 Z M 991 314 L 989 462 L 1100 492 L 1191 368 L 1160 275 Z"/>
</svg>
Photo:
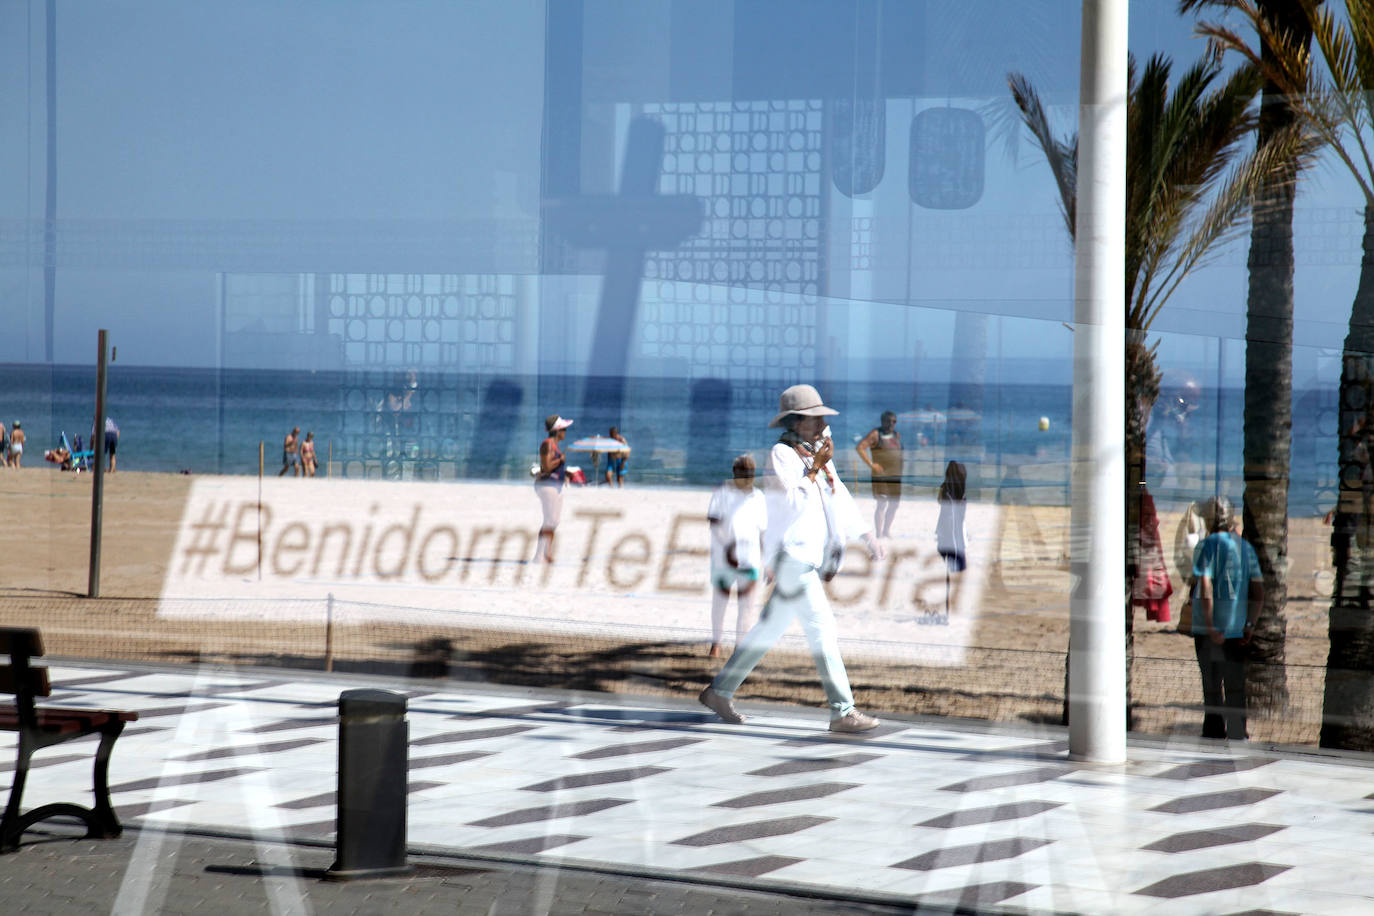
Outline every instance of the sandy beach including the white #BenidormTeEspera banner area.
<svg viewBox="0 0 1374 916">
<path fill-rule="evenodd" d="M 104 479 L 92 600 L 91 485 L 89 474 L 0 471 L 10 520 L 0 530 L 0 621 L 43 628 L 52 655 L 647 694 L 695 694 L 719 665 L 705 656 L 706 490 L 570 488 L 558 563 L 545 569 L 525 562 L 539 525 L 525 482 L 272 478 L 260 494 L 257 478 L 121 471 Z M 867 511 L 866 489 L 856 496 Z M 857 700 L 878 711 L 1058 721 L 1068 509 L 970 504 L 970 570 L 948 626 L 929 622 L 945 596 L 934 515 L 933 493 L 907 496 L 889 559 L 871 564 L 855 551 L 831 585 Z M 1161 514 L 1167 547 L 1176 525 L 1176 514 Z M 1329 529 L 1292 519 L 1289 538 L 1292 705 L 1252 717 L 1250 732 L 1314 744 Z M 1173 584 L 1182 592 L 1176 574 Z M 1135 629 L 1138 726 L 1198 733 L 1191 640 L 1143 612 Z M 822 702 L 800 634 L 741 695 Z"/>
</svg>

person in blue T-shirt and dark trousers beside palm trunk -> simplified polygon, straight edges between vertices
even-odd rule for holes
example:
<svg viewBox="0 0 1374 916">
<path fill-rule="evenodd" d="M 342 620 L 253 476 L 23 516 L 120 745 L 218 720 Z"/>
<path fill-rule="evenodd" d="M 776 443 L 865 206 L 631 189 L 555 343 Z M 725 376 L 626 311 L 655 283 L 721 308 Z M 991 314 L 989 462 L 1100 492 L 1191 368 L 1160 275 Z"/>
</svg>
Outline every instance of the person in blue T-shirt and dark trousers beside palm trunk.
<svg viewBox="0 0 1374 916">
<path fill-rule="evenodd" d="M 1202 674 L 1202 737 L 1243 742 L 1245 659 L 1264 606 L 1264 575 L 1224 496 L 1202 504 L 1206 538 L 1193 555 L 1193 648 Z"/>
</svg>

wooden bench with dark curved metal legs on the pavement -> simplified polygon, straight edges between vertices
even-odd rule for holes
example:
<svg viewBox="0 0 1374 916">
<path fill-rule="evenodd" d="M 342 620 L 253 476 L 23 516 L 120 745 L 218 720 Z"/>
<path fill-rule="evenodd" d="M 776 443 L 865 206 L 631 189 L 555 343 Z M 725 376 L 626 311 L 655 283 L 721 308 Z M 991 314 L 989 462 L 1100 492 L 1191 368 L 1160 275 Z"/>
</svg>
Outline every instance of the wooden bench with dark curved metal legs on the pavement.
<svg viewBox="0 0 1374 916">
<path fill-rule="evenodd" d="M 77 817 L 87 825 L 87 836 L 109 838 L 122 832 L 120 818 L 110 806 L 110 751 L 124 731 L 125 722 L 139 718 L 137 713 L 91 709 L 44 709 L 34 705 L 38 696 L 49 696 L 48 669 L 33 666 L 29 659 L 43 655 L 38 630 L 0 628 L 0 656 L 8 655 L 8 665 L 0 665 L 0 695 L 14 695 L 14 703 L 0 705 L 0 731 L 18 732 L 19 747 L 14 768 L 10 803 L 0 820 L 0 853 L 19 849 L 19 836 L 33 824 L 49 817 Z M 23 813 L 19 799 L 29 777 L 29 758 L 41 747 L 60 744 L 85 735 L 100 735 L 95 751 L 95 805 L 82 808 L 58 802 Z"/>
</svg>

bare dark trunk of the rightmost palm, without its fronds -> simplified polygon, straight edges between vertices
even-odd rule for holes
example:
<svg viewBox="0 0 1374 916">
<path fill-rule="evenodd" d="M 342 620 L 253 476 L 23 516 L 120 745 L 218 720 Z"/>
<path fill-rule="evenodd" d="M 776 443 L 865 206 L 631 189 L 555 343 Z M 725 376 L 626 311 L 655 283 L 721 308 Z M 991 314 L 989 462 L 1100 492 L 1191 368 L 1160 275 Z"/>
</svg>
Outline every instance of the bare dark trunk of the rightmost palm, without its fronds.
<svg viewBox="0 0 1374 916">
<path fill-rule="evenodd" d="M 1370 423 L 1374 419 L 1374 203 L 1364 205 L 1360 282 L 1341 368 L 1340 503 L 1331 547 L 1336 588 L 1327 632 L 1322 747 L 1374 750 L 1374 538 Z"/>
</svg>

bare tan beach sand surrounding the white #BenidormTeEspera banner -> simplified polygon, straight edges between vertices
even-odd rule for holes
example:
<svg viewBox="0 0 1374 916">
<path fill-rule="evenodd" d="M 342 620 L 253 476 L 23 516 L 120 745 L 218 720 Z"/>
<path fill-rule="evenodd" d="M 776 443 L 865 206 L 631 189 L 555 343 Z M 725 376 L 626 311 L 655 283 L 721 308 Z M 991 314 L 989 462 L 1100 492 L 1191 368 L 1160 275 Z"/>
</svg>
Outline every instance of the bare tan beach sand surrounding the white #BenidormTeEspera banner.
<svg viewBox="0 0 1374 916">
<path fill-rule="evenodd" d="M 210 481 L 133 471 L 106 477 L 102 597 L 87 599 L 92 475 L 62 474 L 44 467 L 0 470 L 7 519 L 0 529 L 0 622 L 40 626 L 49 654 L 73 658 L 316 669 L 331 665 L 334 670 L 420 677 L 447 674 L 506 684 L 640 694 L 694 695 L 719 666 L 705 658 L 703 641 L 684 641 L 680 628 L 664 630 L 676 633 L 676 639 L 653 630 L 635 636 L 624 626 L 589 626 L 578 614 L 565 612 L 592 607 L 602 599 L 627 599 L 622 591 L 617 592 L 605 581 L 584 582 L 580 591 L 561 592 L 556 599 L 541 599 L 529 589 L 488 591 L 484 603 L 495 606 L 496 614 L 484 617 L 473 610 L 440 621 L 407 614 L 404 607 L 390 612 L 393 608 L 387 608 L 385 600 L 381 604 L 386 612 L 372 612 L 368 619 L 352 625 L 346 622 L 348 615 L 339 615 L 341 622 L 334 626 L 326 626 L 323 615 L 284 612 L 290 600 L 268 603 L 268 610 L 251 621 L 210 614 L 169 615 L 164 589 L 176 580 L 174 549 L 177 538 L 185 536 L 183 514 L 194 497 L 192 486 L 205 488 Z M 243 488 L 249 481 L 239 478 L 232 485 Z M 273 481 L 269 486 L 272 483 L 283 482 Z M 284 483 L 312 488 L 342 482 Z M 256 481 L 251 485 L 256 486 Z M 354 486 L 386 485 L 357 482 Z M 442 488 L 460 485 L 427 486 L 448 494 L 451 492 Z M 481 493 L 486 494 L 482 499 L 497 504 L 519 505 L 521 512 L 533 514 L 537 522 L 528 485 L 488 485 Z M 614 496 L 594 489 L 570 492 L 569 505 L 595 505 L 591 500 L 596 499 L 616 499 L 629 507 L 627 511 L 650 514 L 673 500 L 699 500 L 705 505 L 701 492 L 638 488 Z M 923 526 L 932 507 L 932 497 L 908 497 L 899 520 L 905 519 L 912 527 Z M 846 663 L 863 707 L 999 721 L 1058 721 L 1068 639 L 1068 509 L 1003 505 L 988 518 L 993 527 L 981 538 L 984 562 L 970 570 L 977 581 L 969 593 L 977 596 L 977 607 L 967 612 L 969 619 L 958 637 L 960 663 L 919 663 L 919 654 L 907 661 L 901 652 L 866 654 L 861 643 L 849 643 Z M 565 526 L 566 519 L 565 514 Z M 1161 516 L 1167 544 L 1173 540 L 1176 522 L 1173 514 Z M 1327 537 L 1329 529 L 1319 519 L 1290 522 L 1287 680 L 1292 703 L 1281 715 L 1252 717 L 1252 739 L 1316 743 L 1327 651 L 1327 596 L 1322 588 L 1330 588 L 1331 574 Z M 903 541 L 899 538 L 893 544 L 900 549 Z M 1179 582 L 1175 577 L 1176 588 Z M 451 595 L 462 593 L 462 585 L 452 586 Z M 690 595 L 677 597 L 679 602 L 698 600 Z M 232 607 L 246 600 L 264 606 L 261 599 L 221 595 L 214 585 L 181 595 L 176 606 L 184 610 L 201 602 L 206 607 Z M 651 604 L 653 596 L 639 595 L 636 600 Z M 705 626 L 705 591 L 699 600 Z M 1179 600 L 1180 596 L 1175 596 L 1175 608 Z M 857 606 L 837 607 L 841 633 L 853 636 L 856 621 L 868 626 L 863 615 L 870 611 Z M 936 633 L 938 628 L 918 625 L 912 614 L 883 619 L 889 618 L 905 622 L 908 645 L 944 639 Z M 503 619 L 518 625 L 506 626 Z M 1132 696 L 1138 728 L 1151 733 L 1197 735 L 1201 710 L 1191 640 L 1164 625 L 1146 622 L 1143 612 L 1136 614 L 1135 630 Z M 702 630 L 701 640 L 705 639 Z M 765 658 L 746 681 L 741 698 L 823 703 L 811 659 L 797 651 L 796 641 Z"/>
</svg>

